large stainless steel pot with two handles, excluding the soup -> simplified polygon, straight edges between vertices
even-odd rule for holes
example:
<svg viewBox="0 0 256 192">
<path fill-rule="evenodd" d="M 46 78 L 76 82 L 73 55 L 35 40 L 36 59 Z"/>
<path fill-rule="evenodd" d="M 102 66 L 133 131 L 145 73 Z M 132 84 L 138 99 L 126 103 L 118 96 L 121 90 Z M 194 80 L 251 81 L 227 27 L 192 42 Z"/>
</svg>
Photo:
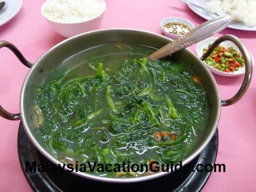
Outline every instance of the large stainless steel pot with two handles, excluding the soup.
<svg viewBox="0 0 256 192">
<path fill-rule="evenodd" d="M 206 68 L 203 61 L 210 52 L 215 48 L 216 45 L 220 44 L 220 42 L 224 40 L 231 40 L 236 44 L 244 59 L 246 72 L 244 76 L 244 81 L 238 93 L 228 100 L 221 100 L 219 91 L 217 88 L 216 81 L 210 71 Z M 134 29 L 106 29 L 106 30 L 98 30 L 93 32 L 88 32 L 84 34 L 80 34 L 64 40 L 60 42 L 58 45 L 51 48 L 44 55 L 42 55 L 34 64 L 27 61 L 24 56 L 19 52 L 19 50 L 10 44 L 7 41 L 0 41 L 0 48 L 7 47 L 18 57 L 18 59 L 27 67 L 31 68 L 27 77 L 25 78 L 22 92 L 20 94 L 20 114 L 11 114 L 5 111 L 0 105 L 0 115 L 4 118 L 10 120 L 19 120 L 22 119 L 23 125 L 25 127 L 25 131 L 32 141 L 32 143 L 36 146 L 36 148 L 46 156 L 53 163 L 59 163 L 62 165 L 60 161 L 55 159 L 47 150 L 42 146 L 40 140 L 37 139 L 36 136 L 36 120 L 34 113 L 34 103 L 37 96 L 36 89 L 45 81 L 45 79 L 51 75 L 52 70 L 54 70 L 59 63 L 67 58 L 75 55 L 78 52 L 83 50 L 106 44 L 108 42 L 132 42 L 136 44 L 146 45 L 154 48 L 161 48 L 164 45 L 168 44 L 171 40 L 167 37 L 141 31 Z M 188 49 L 184 49 L 177 53 L 173 54 L 174 57 L 179 59 L 180 61 L 186 63 L 186 65 L 194 71 L 194 73 L 200 78 L 207 94 L 208 98 L 208 108 L 209 108 L 209 117 L 206 129 L 198 135 L 196 144 L 190 154 L 183 160 L 183 165 L 193 160 L 203 148 L 210 141 L 212 136 L 214 135 L 217 125 L 220 118 L 221 106 L 227 106 L 237 102 L 246 92 L 252 75 L 252 61 L 244 46 L 243 42 L 241 42 L 237 37 L 232 35 L 224 35 L 217 39 L 212 47 L 208 50 L 208 52 L 200 59 L 193 52 Z M 170 172 L 169 172 L 170 173 Z M 90 175 L 88 173 L 75 173 L 84 178 L 106 181 L 106 182 L 137 182 L 148 179 L 157 178 L 163 175 L 168 174 L 167 172 L 156 173 L 150 176 L 145 177 L 137 177 L 137 178 L 104 178 L 97 177 L 94 175 Z"/>
</svg>

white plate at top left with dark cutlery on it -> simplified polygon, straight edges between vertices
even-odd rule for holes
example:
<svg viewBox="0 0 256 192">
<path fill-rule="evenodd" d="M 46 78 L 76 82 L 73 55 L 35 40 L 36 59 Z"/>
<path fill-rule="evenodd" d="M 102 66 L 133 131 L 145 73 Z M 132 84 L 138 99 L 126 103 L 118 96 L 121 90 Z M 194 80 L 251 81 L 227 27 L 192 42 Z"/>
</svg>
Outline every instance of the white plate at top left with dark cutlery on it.
<svg viewBox="0 0 256 192">
<path fill-rule="evenodd" d="M 9 22 L 9 20 L 11 20 L 22 7 L 22 0 L 3 1 L 5 1 L 5 7 L 0 11 L 0 26 Z"/>
</svg>

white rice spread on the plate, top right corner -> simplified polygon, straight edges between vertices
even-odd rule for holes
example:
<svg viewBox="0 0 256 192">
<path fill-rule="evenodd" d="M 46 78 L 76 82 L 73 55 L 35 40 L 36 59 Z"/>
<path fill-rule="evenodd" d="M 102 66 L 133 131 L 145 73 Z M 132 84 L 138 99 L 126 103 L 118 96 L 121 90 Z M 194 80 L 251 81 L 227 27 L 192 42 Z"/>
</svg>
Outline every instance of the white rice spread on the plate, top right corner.
<svg viewBox="0 0 256 192">
<path fill-rule="evenodd" d="M 256 0 L 210 0 L 205 7 L 211 12 L 229 14 L 248 27 L 256 25 Z"/>
</svg>

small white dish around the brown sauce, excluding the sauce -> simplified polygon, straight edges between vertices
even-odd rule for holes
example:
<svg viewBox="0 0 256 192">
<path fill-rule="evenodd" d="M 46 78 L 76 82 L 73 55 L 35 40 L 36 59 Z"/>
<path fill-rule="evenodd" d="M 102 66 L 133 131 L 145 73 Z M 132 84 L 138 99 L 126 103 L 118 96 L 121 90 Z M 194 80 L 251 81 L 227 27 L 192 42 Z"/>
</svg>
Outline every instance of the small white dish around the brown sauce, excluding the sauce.
<svg viewBox="0 0 256 192">
<path fill-rule="evenodd" d="M 169 38 L 172 38 L 172 39 L 176 39 L 176 38 L 178 38 L 180 35 L 175 35 L 175 34 L 166 32 L 166 31 L 164 30 L 164 25 L 167 24 L 167 23 L 173 23 L 173 22 L 185 24 L 185 25 L 187 25 L 190 29 L 195 28 L 195 26 L 193 25 L 193 23 L 189 22 L 189 20 L 187 20 L 187 19 L 184 19 L 184 18 L 181 18 L 181 17 L 166 17 L 166 18 L 164 18 L 164 19 L 161 21 L 160 27 L 161 27 L 161 29 L 162 29 L 164 35 L 167 36 L 167 37 L 169 37 Z"/>
</svg>

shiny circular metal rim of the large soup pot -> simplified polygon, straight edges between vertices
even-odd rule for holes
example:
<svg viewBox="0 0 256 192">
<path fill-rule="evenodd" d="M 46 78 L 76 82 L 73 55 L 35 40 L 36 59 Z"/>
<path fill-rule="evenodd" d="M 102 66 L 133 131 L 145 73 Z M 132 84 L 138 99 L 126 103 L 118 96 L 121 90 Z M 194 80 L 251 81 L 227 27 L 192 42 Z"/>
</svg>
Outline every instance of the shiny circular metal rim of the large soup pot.
<svg viewBox="0 0 256 192">
<path fill-rule="evenodd" d="M 20 115 L 22 118 L 22 123 L 24 125 L 26 134 L 28 135 L 29 139 L 32 141 L 32 143 L 35 145 L 35 147 L 37 148 L 37 150 L 44 155 L 47 159 L 49 159 L 51 162 L 53 162 L 54 164 L 60 164 L 61 166 L 63 166 L 63 163 L 60 162 L 59 160 L 55 159 L 52 155 L 50 155 L 43 147 L 40 146 L 40 144 L 37 142 L 37 140 L 35 139 L 35 137 L 33 136 L 32 132 L 29 129 L 29 125 L 28 122 L 26 120 L 26 115 L 24 113 L 24 99 L 25 99 L 25 88 L 29 82 L 29 78 L 30 75 L 32 73 L 32 71 L 34 70 L 34 68 L 38 65 L 38 63 L 42 60 L 42 58 L 44 58 L 45 56 L 47 56 L 52 50 L 57 49 L 60 45 L 65 44 L 68 41 L 71 41 L 73 39 L 76 39 L 78 37 L 82 37 L 82 36 L 86 36 L 90 33 L 101 33 L 101 32 L 106 32 L 106 31 L 128 31 L 128 32 L 139 32 L 139 33 L 144 33 L 144 34 L 151 34 L 154 35 L 156 37 L 159 38 L 163 38 L 166 39 L 167 41 L 171 41 L 172 39 L 169 39 L 168 37 L 165 37 L 163 35 L 157 34 L 157 33 L 153 33 L 153 32 L 148 32 L 145 30 L 138 30 L 138 29 L 129 29 L 129 28 L 113 28 L 113 29 L 100 29 L 100 30 L 95 30 L 95 31 L 90 31 L 90 32 L 86 32 L 86 33 L 82 33 L 73 37 L 70 37 L 68 39 L 65 39 L 61 42 L 59 42 L 57 45 L 53 46 L 51 49 L 49 49 L 48 51 L 46 51 L 44 54 L 42 54 L 34 63 L 34 65 L 32 66 L 32 68 L 29 70 L 23 86 L 22 86 L 22 91 L 20 92 Z M 194 158 L 196 158 L 201 151 L 203 150 L 203 148 L 209 143 L 209 141 L 211 140 L 211 138 L 214 136 L 215 131 L 217 130 L 217 125 L 219 123 L 219 119 L 220 119 L 220 114 L 221 114 L 221 99 L 220 99 L 220 94 L 218 91 L 218 86 L 216 83 L 216 80 L 214 78 L 214 76 L 210 73 L 210 71 L 207 69 L 207 67 L 204 65 L 203 61 L 197 57 L 197 55 L 195 53 L 193 53 L 191 50 L 186 49 L 186 51 L 188 51 L 191 55 L 194 55 L 195 58 L 197 58 L 198 62 L 202 62 L 203 68 L 205 68 L 206 73 L 208 73 L 209 78 L 212 80 L 212 82 L 215 85 L 216 88 L 216 93 L 217 93 L 217 99 L 219 100 L 218 102 L 218 106 L 217 106 L 217 113 L 216 113 L 216 121 L 214 123 L 214 125 L 212 125 L 212 129 L 210 130 L 209 136 L 207 137 L 207 139 L 203 142 L 203 144 L 201 144 L 201 146 L 191 155 L 189 155 L 188 157 L 186 157 L 186 159 L 184 161 L 182 161 L 182 165 L 185 165 L 187 163 L 189 163 L 191 160 L 193 160 Z M 65 170 L 69 170 L 67 168 L 67 166 L 65 166 Z M 140 182 L 140 181 L 145 181 L 145 180 L 150 180 L 150 179 L 155 179 L 161 176 L 164 176 L 166 174 L 172 173 L 172 172 L 159 172 L 159 173 L 155 173 L 149 176 L 143 176 L 143 177 L 135 177 L 135 178 L 108 178 L 108 177 L 101 177 L 101 176 L 94 176 L 92 174 L 88 174 L 87 172 L 72 172 L 73 174 L 83 177 L 83 178 L 88 178 L 88 179 L 92 179 L 92 180 L 96 180 L 96 181 L 103 181 L 103 182 L 111 182 L 111 183 L 132 183 L 132 182 Z"/>
</svg>

